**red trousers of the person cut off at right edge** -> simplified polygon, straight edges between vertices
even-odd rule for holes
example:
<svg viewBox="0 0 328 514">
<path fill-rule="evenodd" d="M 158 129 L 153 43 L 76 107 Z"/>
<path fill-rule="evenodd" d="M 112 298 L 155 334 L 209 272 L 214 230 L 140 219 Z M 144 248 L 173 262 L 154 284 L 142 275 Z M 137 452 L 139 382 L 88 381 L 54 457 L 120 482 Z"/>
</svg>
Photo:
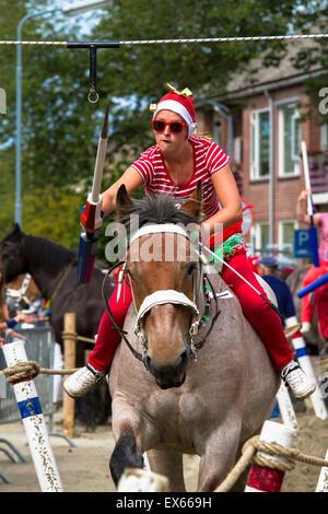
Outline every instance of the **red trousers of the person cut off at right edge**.
<svg viewBox="0 0 328 514">
<path fill-rule="evenodd" d="M 315 280 L 320 279 L 324 274 L 328 273 L 328 261 L 321 261 L 320 266 L 316 268 L 312 266 L 303 280 L 303 288 L 306 288 Z M 328 284 L 321 285 L 302 299 L 302 314 L 301 322 L 312 323 L 315 307 L 320 325 L 323 337 L 328 338 Z"/>
</svg>

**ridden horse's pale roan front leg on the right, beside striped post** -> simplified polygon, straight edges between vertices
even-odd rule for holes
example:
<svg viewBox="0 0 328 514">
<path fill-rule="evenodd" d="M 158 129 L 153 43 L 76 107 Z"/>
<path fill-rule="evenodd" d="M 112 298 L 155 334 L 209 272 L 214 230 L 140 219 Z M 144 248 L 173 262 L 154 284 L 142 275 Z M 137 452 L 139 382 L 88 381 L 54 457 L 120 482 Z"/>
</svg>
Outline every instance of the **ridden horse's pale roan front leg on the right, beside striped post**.
<svg viewBox="0 0 328 514">
<path fill-rule="evenodd" d="M 198 477 L 199 492 L 212 492 L 233 468 L 239 446 L 241 423 L 227 416 L 230 423 L 221 424 L 203 444 Z"/>
</svg>

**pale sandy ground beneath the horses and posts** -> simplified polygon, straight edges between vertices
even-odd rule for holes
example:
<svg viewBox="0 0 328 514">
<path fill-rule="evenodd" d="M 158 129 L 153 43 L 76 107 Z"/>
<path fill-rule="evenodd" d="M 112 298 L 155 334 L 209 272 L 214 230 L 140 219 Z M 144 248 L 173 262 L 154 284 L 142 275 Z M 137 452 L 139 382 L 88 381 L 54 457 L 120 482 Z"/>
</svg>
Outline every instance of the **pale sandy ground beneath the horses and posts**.
<svg viewBox="0 0 328 514">
<path fill-rule="evenodd" d="M 305 411 L 296 412 L 298 423 L 296 447 L 306 455 L 325 458 L 328 449 L 328 419 L 317 418 L 308 399 L 302 406 Z M 282 422 L 280 418 L 274 418 L 273 421 Z M 62 433 L 62 410 L 56 412 L 52 430 Z M 39 492 L 22 422 L 0 425 L 1 439 L 7 439 L 14 444 L 27 463 L 13 463 L 5 453 L 0 452 L 0 472 L 10 481 L 10 483 L 4 483 L 0 478 L 0 493 Z M 63 490 L 66 492 L 115 492 L 108 468 L 109 456 L 114 449 L 110 423 L 97 427 L 94 433 L 87 433 L 81 427 L 75 427 L 72 442 L 74 447 L 63 437 L 50 435 Z M 1 447 L 12 453 L 9 446 L 0 441 Z M 185 456 L 185 478 L 188 491 L 196 491 L 198 462 L 197 456 Z M 319 474 L 319 467 L 297 463 L 292 471 L 285 474 L 282 492 L 315 492 Z"/>
</svg>

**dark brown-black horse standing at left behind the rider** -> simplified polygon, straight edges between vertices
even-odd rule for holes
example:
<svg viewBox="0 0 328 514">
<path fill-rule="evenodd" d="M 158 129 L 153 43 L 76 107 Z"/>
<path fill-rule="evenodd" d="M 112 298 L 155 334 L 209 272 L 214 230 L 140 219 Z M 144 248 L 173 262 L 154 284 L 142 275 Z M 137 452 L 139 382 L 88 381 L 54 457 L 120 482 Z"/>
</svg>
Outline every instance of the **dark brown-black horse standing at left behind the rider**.
<svg viewBox="0 0 328 514">
<path fill-rule="evenodd" d="M 13 223 L 1 241 L 0 260 L 5 284 L 23 273 L 30 273 L 42 297 L 50 301 L 49 324 L 61 350 L 66 313 L 75 313 L 79 336 L 94 338 L 104 312 L 102 284 L 105 274 L 98 266 L 94 267 L 89 283 L 79 283 L 77 252 L 45 237 L 25 234 L 17 223 Z M 113 290 L 114 281 L 110 280 L 107 282 L 107 295 Z M 92 343 L 78 341 L 77 366 L 84 365 L 85 351 L 92 348 Z M 95 386 L 75 402 L 75 419 L 80 419 L 87 431 L 94 431 L 96 423 L 104 423 L 109 413 L 110 398 L 105 384 Z"/>
</svg>

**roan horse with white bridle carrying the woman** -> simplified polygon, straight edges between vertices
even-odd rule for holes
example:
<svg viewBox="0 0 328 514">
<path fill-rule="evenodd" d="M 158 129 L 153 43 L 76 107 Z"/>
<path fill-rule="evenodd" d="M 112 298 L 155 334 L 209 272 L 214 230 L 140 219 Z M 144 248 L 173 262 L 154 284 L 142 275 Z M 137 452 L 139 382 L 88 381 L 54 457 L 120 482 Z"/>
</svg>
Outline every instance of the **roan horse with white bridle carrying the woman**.
<svg viewBox="0 0 328 514">
<path fill-rule="evenodd" d="M 147 454 L 169 490 L 184 492 L 183 454 L 196 454 L 198 491 L 211 492 L 269 418 L 280 376 L 236 296 L 215 269 L 203 271 L 184 229 L 199 222 L 199 189 L 180 208 L 175 202 L 164 195 L 131 200 L 124 185 L 117 192 L 119 222 L 137 214 L 140 231 L 122 264 L 133 302 L 109 373 L 109 469 L 117 487 Z M 234 491 L 244 491 L 247 474 Z"/>
</svg>

